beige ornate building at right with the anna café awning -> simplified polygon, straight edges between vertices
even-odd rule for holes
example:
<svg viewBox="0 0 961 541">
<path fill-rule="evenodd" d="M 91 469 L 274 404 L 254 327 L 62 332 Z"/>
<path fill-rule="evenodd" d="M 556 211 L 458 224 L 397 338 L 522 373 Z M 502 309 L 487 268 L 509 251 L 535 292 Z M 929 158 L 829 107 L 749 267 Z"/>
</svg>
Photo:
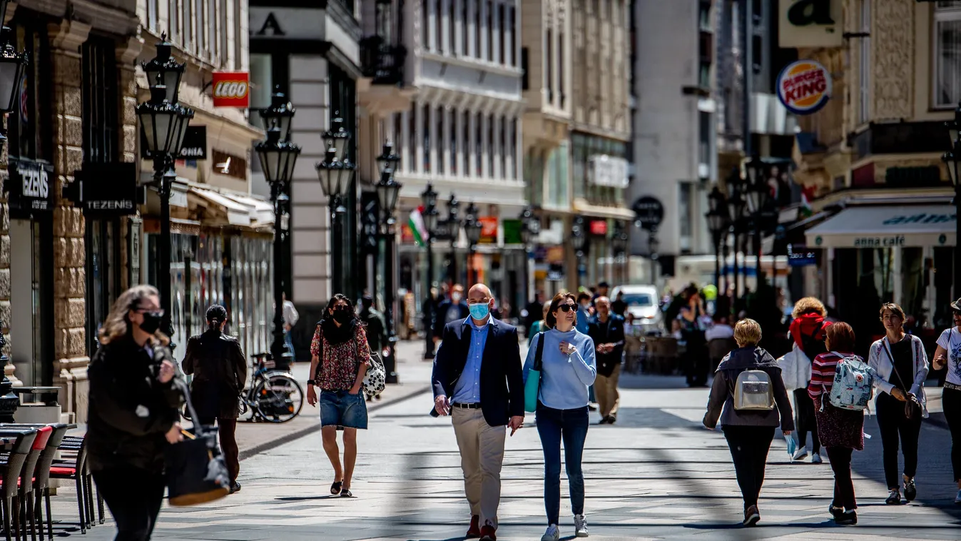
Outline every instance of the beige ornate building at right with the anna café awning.
<svg viewBox="0 0 961 541">
<path fill-rule="evenodd" d="M 833 76 L 833 97 L 801 117 L 794 147 L 815 212 L 798 239 L 817 256 L 803 267 L 804 293 L 852 321 L 866 304 L 894 301 L 940 330 L 957 296 L 957 218 L 941 157 L 961 100 L 961 60 L 950 52 L 961 5 L 838 2 L 843 31 L 857 37 L 798 48 Z"/>
</svg>

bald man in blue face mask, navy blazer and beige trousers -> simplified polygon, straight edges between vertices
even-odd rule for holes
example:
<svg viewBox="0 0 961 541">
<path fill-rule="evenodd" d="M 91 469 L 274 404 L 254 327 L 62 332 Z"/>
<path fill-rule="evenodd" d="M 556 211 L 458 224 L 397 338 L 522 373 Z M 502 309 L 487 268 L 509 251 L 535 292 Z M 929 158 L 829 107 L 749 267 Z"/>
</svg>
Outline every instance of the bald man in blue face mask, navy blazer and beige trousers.
<svg viewBox="0 0 961 541">
<path fill-rule="evenodd" d="M 517 329 L 491 317 L 494 296 L 482 283 L 467 294 L 470 316 L 444 326 L 433 359 L 432 415 L 452 415 L 464 489 L 467 537 L 497 539 L 506 427 L 524 424 L 524 378 Z"/>
</svg>

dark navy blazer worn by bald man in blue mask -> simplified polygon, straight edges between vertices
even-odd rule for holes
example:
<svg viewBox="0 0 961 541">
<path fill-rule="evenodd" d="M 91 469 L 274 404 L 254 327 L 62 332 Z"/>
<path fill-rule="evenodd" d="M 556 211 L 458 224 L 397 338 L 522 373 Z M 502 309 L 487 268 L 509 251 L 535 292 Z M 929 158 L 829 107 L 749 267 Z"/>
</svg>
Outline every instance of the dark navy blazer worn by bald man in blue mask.
<svg viewBox="0 0 961 541">
<path fill-rule="evenodd" d="M 524 415 L 524 365 L 517 328 L 490 318 L 487 341 L 480 361 L 480 408 L 491 427 L 507 424 L 510 417 Z M 433 396 L 452 398 L 457 379 L 467 364 L 473 328 L 466 319 L 444 327 L 443 342 L 433 359 Z"/>
</svg>

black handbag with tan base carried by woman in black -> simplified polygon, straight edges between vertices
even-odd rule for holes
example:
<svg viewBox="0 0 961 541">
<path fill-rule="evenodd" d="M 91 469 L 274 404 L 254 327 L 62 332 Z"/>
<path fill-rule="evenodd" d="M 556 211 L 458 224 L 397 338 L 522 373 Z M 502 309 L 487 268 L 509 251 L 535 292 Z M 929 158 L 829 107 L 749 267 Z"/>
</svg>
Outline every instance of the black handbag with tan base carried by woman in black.
<svg viewBox="0 0 961 541">
<path fill-rule="evenodd" d="M 175 379 L 174 384 L 184 394 L 190 418 L 199 419 L 186 383 Z M 230 494 L 231 478 L 215 434 L 211 427 L 195 421 L 193 432 L 185 432 L 184 441 L 166 448 L 167 496 L 171 505 L 206 504 Z"/>
</svg>

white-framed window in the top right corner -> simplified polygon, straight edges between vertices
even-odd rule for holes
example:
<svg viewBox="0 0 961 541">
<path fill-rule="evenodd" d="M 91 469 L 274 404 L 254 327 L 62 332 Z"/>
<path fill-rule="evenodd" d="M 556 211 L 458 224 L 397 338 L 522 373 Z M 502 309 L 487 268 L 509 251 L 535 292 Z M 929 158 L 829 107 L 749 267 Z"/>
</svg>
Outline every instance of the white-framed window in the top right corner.
<svg viewBox="0 0 961 541">
<path fill-rule="evenodd" d="M 961 99 L 961 2 L 934 5 L 935 107 L 953 107 Z"/>
</svg>

